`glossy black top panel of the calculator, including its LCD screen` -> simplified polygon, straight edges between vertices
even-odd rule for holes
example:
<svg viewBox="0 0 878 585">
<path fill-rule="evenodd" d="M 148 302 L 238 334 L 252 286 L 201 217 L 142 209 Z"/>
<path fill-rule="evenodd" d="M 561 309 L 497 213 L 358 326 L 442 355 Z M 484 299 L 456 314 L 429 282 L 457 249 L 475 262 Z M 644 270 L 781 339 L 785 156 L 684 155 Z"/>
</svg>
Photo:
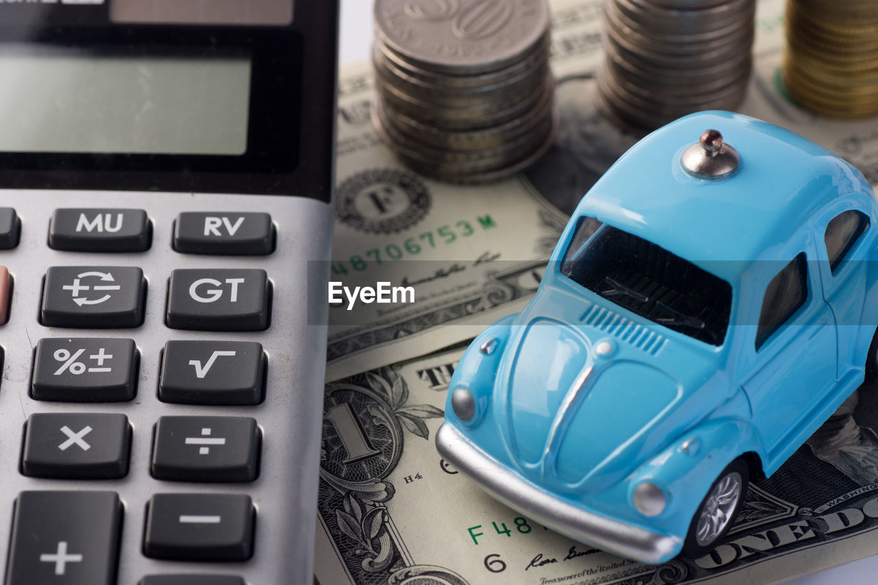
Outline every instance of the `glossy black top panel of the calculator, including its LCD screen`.
<svg viewBox="0 0 878 585">
<path fill-rule="evenodd" d="M 339 0 L 0 0 L 0 190 L 328 201 Z"/>
</svg>

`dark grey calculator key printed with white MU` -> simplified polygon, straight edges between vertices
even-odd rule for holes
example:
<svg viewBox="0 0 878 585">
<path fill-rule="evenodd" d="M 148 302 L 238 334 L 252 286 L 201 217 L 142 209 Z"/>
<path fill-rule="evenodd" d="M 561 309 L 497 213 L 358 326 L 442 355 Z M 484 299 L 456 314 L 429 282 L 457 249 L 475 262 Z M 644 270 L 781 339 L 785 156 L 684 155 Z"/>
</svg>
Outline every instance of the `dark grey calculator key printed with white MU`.
<svg viewBox="0 0 878 585">
<path fill-rule="evenodd" d="M 152 228 L 142 209 L 56 209 L 49 248 L 76 252 L 142 252 Z"/>
</svg>

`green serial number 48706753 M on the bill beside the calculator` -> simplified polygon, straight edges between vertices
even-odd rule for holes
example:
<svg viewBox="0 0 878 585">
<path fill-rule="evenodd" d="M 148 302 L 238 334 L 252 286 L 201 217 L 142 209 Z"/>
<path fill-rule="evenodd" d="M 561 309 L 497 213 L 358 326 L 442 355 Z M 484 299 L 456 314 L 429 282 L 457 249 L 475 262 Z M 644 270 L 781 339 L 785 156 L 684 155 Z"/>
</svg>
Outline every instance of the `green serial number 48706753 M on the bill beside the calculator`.
<svg viewBox="0 0 878 585">
<path fill-rule="evenodd" d="M 380 266 L 385 262 L 414 258 L 427 250 L 445 248 L 454 242 L 465 240 L 496 227 L 497 222 L 493 220 L 491 215 L 487 214 L 479 215 L 472 220 L 458 220 L 399 242 L 390 242 L 384 247 L 367 249 L 362 254 L 350 256 L 347 260 L 335 261 L 332 263 L 332 273 L 335 276 L 344 276 L 352 272 L 366 271 L 371 266 Z"/>
</svg>

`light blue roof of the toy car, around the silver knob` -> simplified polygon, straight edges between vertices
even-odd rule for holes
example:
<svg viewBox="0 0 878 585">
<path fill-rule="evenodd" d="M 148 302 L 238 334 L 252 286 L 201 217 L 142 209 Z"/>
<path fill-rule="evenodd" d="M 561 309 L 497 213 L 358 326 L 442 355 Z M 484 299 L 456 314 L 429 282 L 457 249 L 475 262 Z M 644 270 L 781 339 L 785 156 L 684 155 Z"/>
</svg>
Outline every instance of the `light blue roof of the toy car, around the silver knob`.
<svg viewBox="0 0 878 585">
<path fill-rule="evenodd" d="M 680 155 L 714 128 L 738 150 L 730 177 L 695 178 Z M 870 193 L 859 170 L 798 134 L 730 112 L 678 119 L 637 143 L 601 177 L 575 215 L 596 217 L 734 284 L 829 199 Z"/>
</svg>

